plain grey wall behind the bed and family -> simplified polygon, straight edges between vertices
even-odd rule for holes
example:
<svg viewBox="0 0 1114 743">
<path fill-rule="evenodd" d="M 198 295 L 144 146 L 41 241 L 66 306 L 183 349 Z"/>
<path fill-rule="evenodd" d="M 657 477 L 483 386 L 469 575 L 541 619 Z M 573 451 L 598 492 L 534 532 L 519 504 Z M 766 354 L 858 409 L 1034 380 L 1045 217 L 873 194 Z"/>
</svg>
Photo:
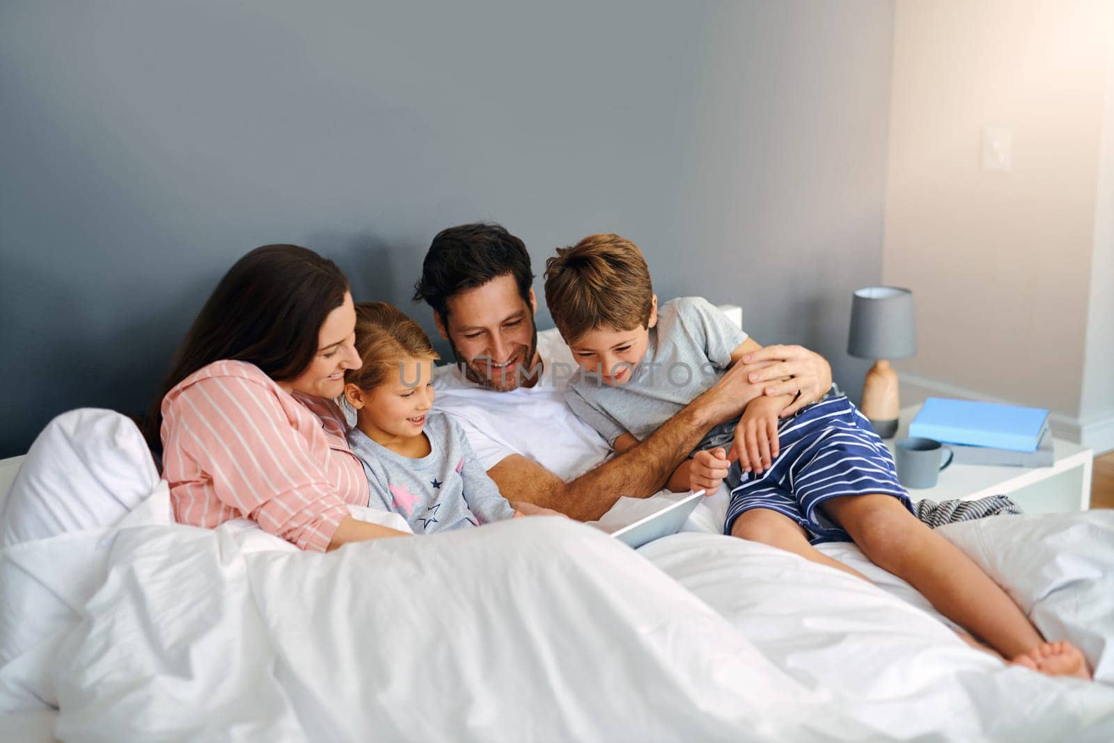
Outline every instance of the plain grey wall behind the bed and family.
<svg viewBox="0 0 1114 743">
<path fill-rule="evenodd" d="M 858 388 L 892 3 L 525 6 L 3 3 L 0 457 L 63 410 L 145 408 L 256 245 L 311 246 L 432 327 L 424 250 L 476 219 L 536 271 L 622 233 L 663 299 L 742 304 Z"/>
</svg>

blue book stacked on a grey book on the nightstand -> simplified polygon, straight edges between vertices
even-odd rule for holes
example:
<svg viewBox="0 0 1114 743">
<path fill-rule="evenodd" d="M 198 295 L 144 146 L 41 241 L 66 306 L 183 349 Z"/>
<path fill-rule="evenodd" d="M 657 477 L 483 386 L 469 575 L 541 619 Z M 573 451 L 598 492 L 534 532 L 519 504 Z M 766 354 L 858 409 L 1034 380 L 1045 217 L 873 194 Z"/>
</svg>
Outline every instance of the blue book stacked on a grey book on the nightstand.
<svg viewBox="0 0 1114 743">
<path fill-rule="evenodd" d="M 1055 460 L 1044 408 L 929 398 L 909 436 L 948 443 L 957 465 L 1051 467 Z"/>
</svg>

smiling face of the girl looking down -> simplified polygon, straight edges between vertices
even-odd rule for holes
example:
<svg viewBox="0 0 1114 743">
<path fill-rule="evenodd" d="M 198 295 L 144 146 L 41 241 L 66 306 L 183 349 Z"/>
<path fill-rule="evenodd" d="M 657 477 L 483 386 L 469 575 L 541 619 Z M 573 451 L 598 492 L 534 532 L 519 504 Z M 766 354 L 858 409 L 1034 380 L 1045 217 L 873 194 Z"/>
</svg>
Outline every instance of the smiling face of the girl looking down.
<svg viewBox="0 0 1114 743">
<path fill-rule="evenodd" d="M 400 359 L 384 382 L 371 390 L 346 384 L 344 397 L 356 410 L 356 427 L 372 441 L 389 447 L 418 437 L 433 407 L 433 360 Z"/>
</svg>

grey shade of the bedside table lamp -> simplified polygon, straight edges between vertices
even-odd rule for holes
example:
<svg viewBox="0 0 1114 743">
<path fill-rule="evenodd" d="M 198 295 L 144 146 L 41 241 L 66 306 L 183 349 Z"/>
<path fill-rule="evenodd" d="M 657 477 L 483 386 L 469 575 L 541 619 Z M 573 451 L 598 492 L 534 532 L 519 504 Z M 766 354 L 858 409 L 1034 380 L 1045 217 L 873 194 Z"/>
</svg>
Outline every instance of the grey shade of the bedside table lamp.
<svg viewBox="0 0 1114 743">
<path fill-rule="evenodd" d="M 916 355 L 912 292 L 896 286 L 856 290 L 847 352 L 860 359 L 908 359 Z"/>
</svg>

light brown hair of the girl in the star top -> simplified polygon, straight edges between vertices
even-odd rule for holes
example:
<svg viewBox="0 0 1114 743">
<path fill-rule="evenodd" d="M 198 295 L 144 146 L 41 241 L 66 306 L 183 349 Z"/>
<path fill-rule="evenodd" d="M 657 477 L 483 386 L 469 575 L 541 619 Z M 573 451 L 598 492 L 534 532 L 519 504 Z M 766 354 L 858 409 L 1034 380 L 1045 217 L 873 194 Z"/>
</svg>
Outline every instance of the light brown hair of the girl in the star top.
<svg viewBox="0 0 1114 743">
<path fill-rule="evenodd" d="M 403 359 L 440 359 L 421 325 L 387 302 L 355 305 L 355 350 L 363 360 L 359 369 L 344 372 L 344 381 L 372 390 L 399 374 Z"/>
</svg>

